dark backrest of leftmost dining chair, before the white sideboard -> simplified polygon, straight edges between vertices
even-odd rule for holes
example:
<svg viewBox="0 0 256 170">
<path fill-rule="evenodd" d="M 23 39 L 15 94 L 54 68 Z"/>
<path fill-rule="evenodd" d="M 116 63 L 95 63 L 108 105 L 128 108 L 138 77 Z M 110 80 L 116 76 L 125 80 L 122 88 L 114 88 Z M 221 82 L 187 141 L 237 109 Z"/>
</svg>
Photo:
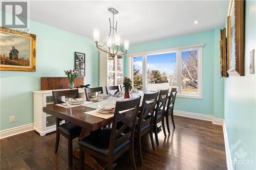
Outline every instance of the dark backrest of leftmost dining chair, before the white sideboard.
<svg viewBox="0 0 256 170">
<path fill-rule="evenodd" d="M 79 91 L 78 89 L 52 91 L 53 103 L 55 105 L 65 103 L 65 101 L 61 100 L 62 96 L 65 96 L 66 98 L 79 98 Z"/>
</svg>

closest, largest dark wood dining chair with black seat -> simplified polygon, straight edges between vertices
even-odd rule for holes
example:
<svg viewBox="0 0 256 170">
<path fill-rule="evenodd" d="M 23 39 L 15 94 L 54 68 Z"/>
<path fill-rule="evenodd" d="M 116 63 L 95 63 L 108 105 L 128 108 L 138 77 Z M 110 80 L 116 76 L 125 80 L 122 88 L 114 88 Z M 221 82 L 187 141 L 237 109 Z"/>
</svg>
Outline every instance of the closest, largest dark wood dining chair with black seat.
<svg viewBox="0 0 256 170">
<path fill-rule="evenodd" d="M 110 170 L 113 169 L 114 161 L 128 150 L 130 151 L 132 167 L 136 169 L 134 131 L 139 104 L 140 97 L 116 102 L 112 128 L 100 129 L 79 141 L 80 170 L 84 170 L 84 152 L 108 162 L 108 169 Z M 118 121 L 122 122 L 123 126 L 117 130 Z M 124 134 L 123 131 L 126 128 L 129 128 L 129 131 Z"/>
</svg>

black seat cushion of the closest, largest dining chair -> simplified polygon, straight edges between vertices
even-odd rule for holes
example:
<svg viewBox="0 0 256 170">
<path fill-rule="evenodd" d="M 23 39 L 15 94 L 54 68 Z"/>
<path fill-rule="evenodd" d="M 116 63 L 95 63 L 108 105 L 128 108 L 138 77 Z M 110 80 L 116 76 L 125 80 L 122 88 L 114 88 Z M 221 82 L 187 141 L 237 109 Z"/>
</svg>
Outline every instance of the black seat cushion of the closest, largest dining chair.
<svg viewBox="0 0 256 170">
<path fill-rule="evenodd" d="M 93 134 L 80 140 L 79 144 L 81 144 L 83 147 L 86 147 L 90 150 L 93 150 L 95 152 L 108 156 L 111 130 L 112 128 L 103 128 L 98 131 L 95 131 Z M 124 136 L 123 133 L 121 133 L 117 138 L 122 136 Z M 130 143 L 131 141 L 127 139 L 122 144 L 114 148 L 113 155 L 117 154 L 119 151 L 121 151 L 124 147 L 126 147 Z"/>
</svg>

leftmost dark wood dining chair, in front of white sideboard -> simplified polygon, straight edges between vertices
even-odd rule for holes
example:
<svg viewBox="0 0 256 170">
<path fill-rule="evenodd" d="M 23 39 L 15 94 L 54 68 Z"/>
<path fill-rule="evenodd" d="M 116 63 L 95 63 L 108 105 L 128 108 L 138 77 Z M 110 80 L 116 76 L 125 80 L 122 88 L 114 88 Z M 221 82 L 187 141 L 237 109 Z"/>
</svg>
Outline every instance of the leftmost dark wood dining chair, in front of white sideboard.
<svg viewBox="0 0 256 170">
<path fill-rule="evenodd" d="M 65 103 L 61 100 L 62 96 L 66 98 L 79 98 L 78 89 L 75 90 L 61 90 L 61 91 L 52 91 L 53 95 L 53 103 L 61 104 Z M 81 127 L 76 126 L 72 123 L 63 123 L 59 124 L 62 119 L 56 117 L 56 143 L 55 143 L 55 154 L 58 152 L 59 147 L 59 134 L 63 135 L 68 139 L 68 159 L 69 159 L 69 166 L 72 167 L 73 165 L 73 139 L 80 135 L 82 130 Z"/>
</svg>

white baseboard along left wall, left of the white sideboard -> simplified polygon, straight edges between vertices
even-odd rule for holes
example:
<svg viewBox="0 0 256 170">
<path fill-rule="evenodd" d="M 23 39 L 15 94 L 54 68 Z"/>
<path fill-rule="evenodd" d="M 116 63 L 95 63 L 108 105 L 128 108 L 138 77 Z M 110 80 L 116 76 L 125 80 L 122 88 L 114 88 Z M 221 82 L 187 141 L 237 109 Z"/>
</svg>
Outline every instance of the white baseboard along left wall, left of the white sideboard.
<svg viewBox="0 0 256 170">
<path fill-rule="evenodd" d="M 0 131 L 0 139 L 33 130 L 33 123 Z"/>
</svg>

